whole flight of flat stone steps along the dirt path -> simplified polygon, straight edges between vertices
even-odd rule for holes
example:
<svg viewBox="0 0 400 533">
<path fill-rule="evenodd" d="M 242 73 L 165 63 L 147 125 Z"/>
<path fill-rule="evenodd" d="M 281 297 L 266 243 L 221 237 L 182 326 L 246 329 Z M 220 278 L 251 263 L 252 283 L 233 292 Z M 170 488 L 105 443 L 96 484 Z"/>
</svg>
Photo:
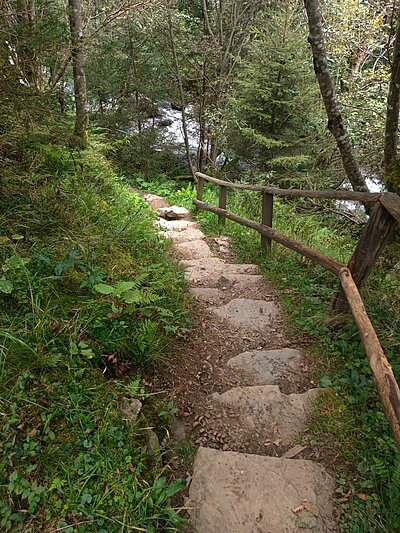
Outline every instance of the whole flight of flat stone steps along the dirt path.
<svg viewBox="0 0 400 533">
<path fill-rule="evenodd" d="M 170 207 L 154 195 L 144 198 L 158 210 L 160 230 L 173 240 L 174 253 L 184 265 L 190 292 L 206 306 L 209 320 L 215 317 L 222 321 L 220 331 L 225 341 L 233 343 L 234 336 L 282 337 L 276 333 L 279 305 L 273 299 L 257 298 L 264 294 L 258 267 L 232 264 L 217 257 L 189 211 Z M 223 245 L 226 252 L 226 243 Z M 238 290 L 242 296 L 243 293 L 248 296 L 248 291 L 252 297 L 229 297 Z M 282 338 L 279 344 L 282 345 Z M 285 393 L 280 386 L 288 372 L 301 371 L 300 351 L 287 346 L 268 350 L 256 347 L 236 353 L 223 365 L 226 371 L 235 373 L 237 385 L 210 394 L 212 409 L 219 411 L 215 418 L 223 418 L 233 432 L 240 429 L 250 435 L 255 443 L 252 449 L 268 450 L 274 444 L 277 453 L 283 452 L 280 457 L 272 457 L 232 451 L 229 448 L 233 444 L 224 438 L 220 440 L 228 442 L 224 446 L 218 446 L 218 440 L 213 447 L 200 446 L 189 489 L 190 531 L 337 531 L 333 519 L 333 478 L 317 462 L 296 458 L 302 450 L 296 439 L 304 429 L 318 391 Z M 218 383 L 215 386 L 218 388 Z M 229 435 L 221 428 L 220 432 Z"/>
</svg>

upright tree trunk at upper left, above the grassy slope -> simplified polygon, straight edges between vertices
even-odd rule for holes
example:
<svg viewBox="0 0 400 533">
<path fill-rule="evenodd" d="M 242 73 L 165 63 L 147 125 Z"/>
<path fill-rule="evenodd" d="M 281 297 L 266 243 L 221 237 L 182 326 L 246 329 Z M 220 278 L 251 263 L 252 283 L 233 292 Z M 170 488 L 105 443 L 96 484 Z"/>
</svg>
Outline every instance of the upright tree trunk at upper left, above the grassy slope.
<svg viewBox="0 0 400 533">
<path fill-rule="evenodd" d="M 82 13 L 80 0 L 68 0 L 69 24 L 72 42 L 72 67 L 75 92 L 75 129 L 74 141 L 80 148 L 88 145 L 89 113 L 86 94 L 85 52 L 82 31 Z"/>
</svg>

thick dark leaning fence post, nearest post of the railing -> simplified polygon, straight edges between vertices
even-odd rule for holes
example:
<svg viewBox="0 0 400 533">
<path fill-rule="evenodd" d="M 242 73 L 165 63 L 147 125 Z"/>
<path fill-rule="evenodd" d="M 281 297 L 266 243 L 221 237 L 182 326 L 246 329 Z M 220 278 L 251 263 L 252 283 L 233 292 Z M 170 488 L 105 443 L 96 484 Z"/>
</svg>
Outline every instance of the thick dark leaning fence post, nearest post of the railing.
<svg viewBox="0 0 400 533">
<path fill-rule="evenodd" d="M 361 289 L 365 283 L 365 280 L 369 276 L 376 260 L 397 224 L 397 220 L 393 218 L 381 202 L 375 204 L 356 249 L 354 250 L 353 256 L 347 265 L 352 273 L 354 282 L 359 289 Z M 340 285 L 331 302 L 330 310 L 338 313 L 344 312 L 347 309 L 347 300 L 343 288 Z"/>
</svg>

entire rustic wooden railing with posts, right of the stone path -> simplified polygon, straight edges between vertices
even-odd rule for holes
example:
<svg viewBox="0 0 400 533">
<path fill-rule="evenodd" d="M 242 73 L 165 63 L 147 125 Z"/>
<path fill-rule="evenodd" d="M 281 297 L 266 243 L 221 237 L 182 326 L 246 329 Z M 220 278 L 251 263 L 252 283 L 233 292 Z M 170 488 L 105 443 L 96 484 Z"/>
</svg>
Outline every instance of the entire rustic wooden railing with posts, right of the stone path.
<svg viewBox="0 0 400 533">
<path fill-rule="evenodd" d="M 261 235 L 261 246 L 268 250 L 271 241 L 276 241 L 286 248 L 311 259 L 314 263 L 329 270 L 339 277 L 340 284 L 334 296 L 330 310 L 338 313 L 350 307 L 354 320 L 364 345 L 372 375 L 380 394 L 386 416 L 389 420 L 397 445 L 400 447 L 400 389 L 393 375 L 392 368 L 383 352 L 376 332 L 365 311 L 359 292 L 378 256 L 382 252 L 389 236 L 400 223 L 400 197 L 394 193 L 368 193 L 345 190 L 311 191 L 297 189 L 279 189 L 262 185 L 246 185 L 231 183 L 201 172 L 196 173 L 197 198 L 193 200 L 198 209 L 210 211 L 218 215 L 221 224 L 226 219 L 232 220 L 256 230 Z M 219 186 L 218 207 L 203 202 L 204 182 Z M 228 190 L 244 189 L 261 194 L 262 215 L 261 223 L 248 220 L 227 210 Z M 342 265 L 334 259 L 314 250 L 295 239 L 284 235 L 272 228 L 273 198 L 323 198 L 330 200 L 354 200 L 374 204 L 371 215 L 366 223 L 361 238 L 347 265 Z"/>
</svg>

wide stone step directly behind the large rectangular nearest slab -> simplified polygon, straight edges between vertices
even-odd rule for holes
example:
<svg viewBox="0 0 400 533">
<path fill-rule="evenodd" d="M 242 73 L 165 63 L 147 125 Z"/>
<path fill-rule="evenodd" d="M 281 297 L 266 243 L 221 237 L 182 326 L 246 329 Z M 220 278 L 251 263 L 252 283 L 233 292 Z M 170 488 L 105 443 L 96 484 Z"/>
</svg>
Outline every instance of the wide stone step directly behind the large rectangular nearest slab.
<svg viewBox="0 0 400 533">
<path fill-rule="evenodd" d="M 304 429 L 316 389 L 303 394 L 283 394 L 278 385 L 235 387 L 212 395 L 223 407 L 237 412 L 241 423 L 258 431 L 264 440 L 286 446 Z"/>
</svg>

